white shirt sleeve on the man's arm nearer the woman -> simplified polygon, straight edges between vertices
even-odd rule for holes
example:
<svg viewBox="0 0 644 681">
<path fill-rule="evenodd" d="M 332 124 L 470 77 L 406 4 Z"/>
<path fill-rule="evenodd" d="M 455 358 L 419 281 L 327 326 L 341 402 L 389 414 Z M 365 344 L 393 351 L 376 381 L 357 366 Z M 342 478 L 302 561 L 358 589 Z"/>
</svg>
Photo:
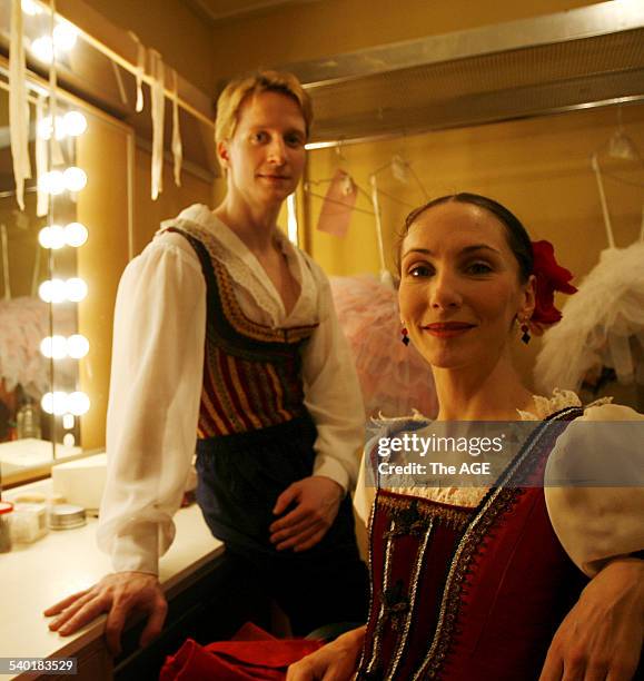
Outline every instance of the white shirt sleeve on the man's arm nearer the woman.
<svg viewBox="0 0 644 681">
<path fill-rule="evenodd" d="M 303 377 L 305 405 L 318 432 L 314 475 L 330 477 L 347 492 L 355 487 L 365 444 L 365 409 L 328 279 L 317 265 L 311 267 L 320 319 L 303 352 Z"/>
</svg>

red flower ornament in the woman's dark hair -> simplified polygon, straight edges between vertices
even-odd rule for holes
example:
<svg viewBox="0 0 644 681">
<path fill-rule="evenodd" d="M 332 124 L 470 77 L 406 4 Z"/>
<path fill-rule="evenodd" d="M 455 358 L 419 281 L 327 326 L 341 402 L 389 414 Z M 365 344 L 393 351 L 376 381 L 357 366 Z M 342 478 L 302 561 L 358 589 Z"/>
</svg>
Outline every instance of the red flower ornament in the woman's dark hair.
<svg viewBox="0 0 644 681">
<path fill-rule="evenodd" d="M 541 336 L 545 327 L 556 324 L 562 313 L 555 307 L 555 290 L 572 295 L 577 289 L 568 282 L 573 274 L 557 264 L 554 246 L 546 240 L 533 241 L 535 275 L 535 308 L 528 322 L 531 330 Z"/>
</svg>

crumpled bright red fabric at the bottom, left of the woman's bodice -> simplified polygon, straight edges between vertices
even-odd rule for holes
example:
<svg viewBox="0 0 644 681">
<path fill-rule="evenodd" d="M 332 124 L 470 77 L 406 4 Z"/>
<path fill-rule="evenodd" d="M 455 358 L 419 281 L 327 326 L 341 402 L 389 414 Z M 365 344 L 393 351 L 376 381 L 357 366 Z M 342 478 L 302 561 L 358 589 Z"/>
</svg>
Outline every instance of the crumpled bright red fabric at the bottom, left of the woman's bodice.
<svg viewBox="0 0 644 681">
<path fill-rule="evenodd" d="M 188 639 L 166 658 L 159 680 L 281 681 L 289 664 L 323 645 L 321 641 L 281 641 L 247 623 L 230 641 L 204 647 Z"/>
</svg>

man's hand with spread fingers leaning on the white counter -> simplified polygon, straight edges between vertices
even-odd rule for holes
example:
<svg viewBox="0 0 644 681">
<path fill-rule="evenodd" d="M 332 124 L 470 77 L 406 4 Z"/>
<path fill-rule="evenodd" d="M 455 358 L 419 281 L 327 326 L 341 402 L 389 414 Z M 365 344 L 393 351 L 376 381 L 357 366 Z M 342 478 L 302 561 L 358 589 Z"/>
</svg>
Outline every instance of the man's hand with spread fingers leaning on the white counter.
<svg viewBox="0 0 644 681">
<path fill-rule="evenodd" d="M 147 645 L 161 632 L 168 604 L 155 574 L 116 572 L 106 575 L 91 589 L 75 593 L 48 608 L 43 614 L 59 615 L 49 623 L 49 629 L 67 636 L 103 612 L 108 613 L 107 644 L 110 652 L 118 655 L 121 632 L 128 616 L 139 612 L 148 614 L 148 622 L 140 639 L 140 644 Z"/>
</svg>

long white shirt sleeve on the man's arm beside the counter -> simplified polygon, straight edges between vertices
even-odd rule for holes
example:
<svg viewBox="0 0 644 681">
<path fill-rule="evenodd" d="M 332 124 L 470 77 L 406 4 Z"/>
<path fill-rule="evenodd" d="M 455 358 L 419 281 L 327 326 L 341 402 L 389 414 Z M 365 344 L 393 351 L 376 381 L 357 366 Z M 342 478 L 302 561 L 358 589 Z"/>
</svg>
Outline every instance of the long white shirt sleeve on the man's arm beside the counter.
<svg viewBox="0 0 644 681">
<path fill-rule="evenodd" d="M 115 571 L 158 573 L 197 440 L 206 284 L 185 239 L 164 235 L 121 277 L 99 546 Z"/>
</svg>

